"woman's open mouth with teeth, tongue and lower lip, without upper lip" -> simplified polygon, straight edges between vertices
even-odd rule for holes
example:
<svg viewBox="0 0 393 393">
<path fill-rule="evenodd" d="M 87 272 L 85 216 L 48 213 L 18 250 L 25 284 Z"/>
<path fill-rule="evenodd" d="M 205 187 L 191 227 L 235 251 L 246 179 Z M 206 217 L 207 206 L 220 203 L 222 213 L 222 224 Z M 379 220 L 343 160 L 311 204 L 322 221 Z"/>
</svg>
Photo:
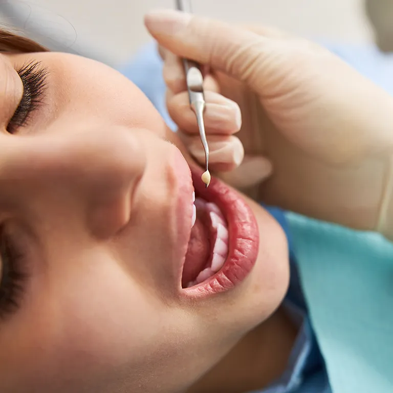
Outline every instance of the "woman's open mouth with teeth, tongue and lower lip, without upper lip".
<svg viewBox="0 0 393 393">
<path fill-rule="evenodd" d="M 189 296 L 236 287 L 254 267 L 259 246 L 256 219 L 246 201 L 216 178 L 206 189 L 201 174 L 191 170 L 195 194 L 190 195 L 189 203 L 193 203 L 193 216 L 186 220 L 192 228 L 181 279 Z"/>
</svg>

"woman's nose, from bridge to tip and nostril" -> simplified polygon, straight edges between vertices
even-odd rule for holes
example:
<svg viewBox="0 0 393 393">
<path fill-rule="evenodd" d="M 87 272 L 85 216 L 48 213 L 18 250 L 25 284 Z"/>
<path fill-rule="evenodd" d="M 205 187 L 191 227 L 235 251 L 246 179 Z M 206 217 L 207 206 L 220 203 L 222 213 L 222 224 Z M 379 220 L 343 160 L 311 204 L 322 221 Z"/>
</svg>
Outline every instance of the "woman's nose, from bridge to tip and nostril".
<svg viewBox="0 0 393 393">
<path fill-rule="evenodd" d="M 128 222 L 147 161 L 143 142 L 132 130 L 9 138 L 12 147 L 3 156 L 7 165 L 0 169 L 0 186 L 10 190 L 13 200 L 34 206 L 41 219 L 48 210 L 65 219 L 78 215 L 101 239 Z"/>
</svg>

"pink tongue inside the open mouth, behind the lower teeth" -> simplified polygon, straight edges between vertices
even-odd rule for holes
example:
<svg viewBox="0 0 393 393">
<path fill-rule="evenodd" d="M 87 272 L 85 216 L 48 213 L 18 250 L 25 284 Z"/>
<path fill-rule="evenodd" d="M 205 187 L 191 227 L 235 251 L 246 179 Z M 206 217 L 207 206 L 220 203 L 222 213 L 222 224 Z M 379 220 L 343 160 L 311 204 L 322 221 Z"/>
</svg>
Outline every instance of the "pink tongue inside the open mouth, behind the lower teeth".
<svg viewBox="0 0 393 393">
<path fill-rule="evenodd" d="M 182 286 L 185 288 L 190 281 L 197 278 L 205 268 L 210 256 L 208 222 L 205 212 L 197 210 L 197 221 L 191 229 L 186 260 L 183 268 Z"/>
</svg>

